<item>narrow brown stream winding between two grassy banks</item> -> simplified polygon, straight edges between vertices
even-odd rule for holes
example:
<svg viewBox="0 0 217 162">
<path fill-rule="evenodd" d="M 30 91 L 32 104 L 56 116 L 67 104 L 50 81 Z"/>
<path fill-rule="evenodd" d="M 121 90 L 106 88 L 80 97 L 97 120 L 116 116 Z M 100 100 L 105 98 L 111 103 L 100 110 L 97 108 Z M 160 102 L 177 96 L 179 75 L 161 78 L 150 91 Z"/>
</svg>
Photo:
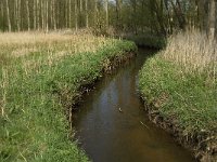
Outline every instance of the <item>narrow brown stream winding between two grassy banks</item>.
<svg viewBox="0 0 217 162">
<path fill-rule="evenodd" d="M 93 162 L 193 162 L 190 152 L 151 123 L 137 92 L 138 71 L 153 51 L 105 76 L 85 96 L 74 126 Z"/>
</svg>

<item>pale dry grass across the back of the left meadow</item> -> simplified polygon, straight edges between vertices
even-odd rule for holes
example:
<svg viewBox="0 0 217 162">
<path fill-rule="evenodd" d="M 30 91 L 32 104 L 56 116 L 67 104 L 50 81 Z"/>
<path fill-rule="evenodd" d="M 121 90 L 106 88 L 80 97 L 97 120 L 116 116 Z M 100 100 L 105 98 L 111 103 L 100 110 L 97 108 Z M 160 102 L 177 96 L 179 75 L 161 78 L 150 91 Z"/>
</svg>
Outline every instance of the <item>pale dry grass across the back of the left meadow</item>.
<svg viewBox="0 0 217 162">
<path fill-rule="evenodd" d="M 41 64 L 52 65 L 67 55 L 95 52 L 113 42 L 113 39 L 82 31 L 0 32 L 0 63 L 5 65 L 13 59 L 23 59 L 24 68 L 33 69 Z M 43 57 L 42 62 L 36 62 L 34 57 L 38 56 Z"/>
</svg>

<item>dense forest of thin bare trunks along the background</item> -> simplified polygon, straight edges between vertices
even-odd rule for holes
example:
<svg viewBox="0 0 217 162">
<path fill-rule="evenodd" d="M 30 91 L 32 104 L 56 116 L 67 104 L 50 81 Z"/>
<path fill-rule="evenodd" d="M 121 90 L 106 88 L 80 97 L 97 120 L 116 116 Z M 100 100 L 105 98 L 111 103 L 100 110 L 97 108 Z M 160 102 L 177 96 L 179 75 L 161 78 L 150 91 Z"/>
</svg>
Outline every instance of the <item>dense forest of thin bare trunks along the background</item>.
<svg viewBox="0 0 217 162">
<path fill-rule="evenodd" d="M 212 31 L 216 0 L 1 0 L 0 30 L 92 28 L 99 32 Z"/>
</svg>

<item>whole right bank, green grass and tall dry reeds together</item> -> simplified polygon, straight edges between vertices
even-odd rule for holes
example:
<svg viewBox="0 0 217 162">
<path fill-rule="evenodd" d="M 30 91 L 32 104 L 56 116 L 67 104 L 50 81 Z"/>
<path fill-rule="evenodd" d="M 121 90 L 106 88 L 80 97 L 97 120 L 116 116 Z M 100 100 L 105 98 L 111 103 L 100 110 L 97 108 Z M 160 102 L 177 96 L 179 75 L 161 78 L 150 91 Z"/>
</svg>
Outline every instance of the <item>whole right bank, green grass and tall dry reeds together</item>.
<svg viewBox="0 0 217 162">
<path fill-rule="evenodd" d="M 150 114 L 170 125 L 180 143 L 193 145 L 203 161 L 217 159 L 216 69 L 216 42 L 187 31 L 168 38 L 167 46 L 140 71 L 139 89 L 152 105 Z"/>
</svg>

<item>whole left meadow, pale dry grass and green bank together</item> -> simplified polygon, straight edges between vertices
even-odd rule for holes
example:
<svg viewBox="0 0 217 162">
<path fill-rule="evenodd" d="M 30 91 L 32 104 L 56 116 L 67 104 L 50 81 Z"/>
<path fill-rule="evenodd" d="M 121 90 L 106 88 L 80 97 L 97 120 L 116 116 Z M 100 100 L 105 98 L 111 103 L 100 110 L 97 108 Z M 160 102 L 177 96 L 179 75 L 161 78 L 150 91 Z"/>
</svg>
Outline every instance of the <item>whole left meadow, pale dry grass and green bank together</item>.
<svg viewBox="0 0 217 162">
<path fill-rule="evenodd" d="M 0 161 L 88 161 L 73 138 L 68 109 L 81 85 L 135 50 L 89 33 L 0 33 Z"/>
</svg>

